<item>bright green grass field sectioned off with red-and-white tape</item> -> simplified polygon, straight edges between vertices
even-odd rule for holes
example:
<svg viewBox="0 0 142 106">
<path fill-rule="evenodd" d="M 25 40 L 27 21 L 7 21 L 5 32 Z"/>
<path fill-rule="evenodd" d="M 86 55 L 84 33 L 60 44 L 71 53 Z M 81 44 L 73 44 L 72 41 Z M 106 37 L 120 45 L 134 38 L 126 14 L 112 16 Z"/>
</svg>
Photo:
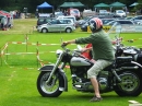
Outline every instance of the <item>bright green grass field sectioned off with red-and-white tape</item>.
<svg viewBox="0 0 142 106">
<path fill-rule="evenodd" d="M 0 31 L 1 51 L 8 43 L 3 54 L 10 54 L 1 55 L 0 57 L 0 106 L 129 106 L 128 101 L 130 99 L 142 103 L 142 94 L 138 97 L 119 97 L 115 92 L 102 94 L 104 101 L 100 103 L 90 103 L 88 101 L 93 94 L 80 93 L 73 90 L 68 69 L 64 71 L 68 74 L 69 91 L 55 98 L 42 97 L 36 89 L 36 80 L 39 74 L 37 69 L 40 67 L 36 57 L 37 50 L 39 51 L 39 58 L 45 63 L 55 62 L 56 55 L 50 51 L 61 49 L 61 40 L 84 37 L 88 33 L 81 32 L 79 28 L 70 34 L 42 34 L 37 33 L 36 30 L 33 31 L 35 25 L 36 19 L 14 20 L 13 28 Z M 120 34 L 120 36 L 123 37 L 125 45 L 142 47 L 142 36 L 140 33 Z M 28 37 L 28 39 L 26 40 L 25 37 Z M 134 42 L 130 44 L 127 42 L 128 39 L 134 39 Z M 28 45 L 20 44 L 26 42 Z M 37 44 L 46 45 L 37 46 Z M 76 46 L 70 45 L 68 47 L 74 49 Z M 27 55 L 27 52 L 32 54 Z"/>
</svg>

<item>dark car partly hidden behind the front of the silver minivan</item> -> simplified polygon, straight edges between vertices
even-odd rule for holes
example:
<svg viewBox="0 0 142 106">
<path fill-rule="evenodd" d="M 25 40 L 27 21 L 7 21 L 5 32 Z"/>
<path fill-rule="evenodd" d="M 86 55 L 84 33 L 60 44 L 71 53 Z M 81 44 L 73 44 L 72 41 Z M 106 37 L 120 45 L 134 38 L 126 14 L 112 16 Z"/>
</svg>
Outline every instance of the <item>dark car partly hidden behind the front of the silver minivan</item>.
<svg viewBox="0 0 142 106">
<path fill-rule="evenodd" d="M 54 20 L 55 17 L 38 17 L 37 19 L 37 23 L 36 23 L 36 28 L 42 25 L 42 24 L 46 24 L 48 22 L 50 22 L 51 20 Z"/>
</svg>

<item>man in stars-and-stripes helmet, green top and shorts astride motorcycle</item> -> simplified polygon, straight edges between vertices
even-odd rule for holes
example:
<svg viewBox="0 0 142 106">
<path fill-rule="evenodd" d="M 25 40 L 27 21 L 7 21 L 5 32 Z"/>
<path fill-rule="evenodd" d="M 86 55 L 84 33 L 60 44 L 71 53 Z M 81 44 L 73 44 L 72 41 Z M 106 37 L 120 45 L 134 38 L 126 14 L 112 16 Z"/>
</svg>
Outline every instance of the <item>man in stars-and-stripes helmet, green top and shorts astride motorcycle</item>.
<svg viewBox="0 0 142 106">
<path fill-rule="evenodd" d="M 94 96 L 90 102 L 99 102 L 103 98 L 99 93 L 97 74 L 104 68 L 113 63 L 115 60 L 115 54 L 109 36 L 105 33 L 105 31 L 103 31 L 102 20 L 97 17 L 92 19 L 90 21 L 90 27 L 92 31 L 90 36 L 63 42 L 62 45 L 92 44 L 93 59 L 95 60 L 95 63 L 91 69 L 88 69 L 87 78 L 91 79 L 94 87 Z"/>
</svg>

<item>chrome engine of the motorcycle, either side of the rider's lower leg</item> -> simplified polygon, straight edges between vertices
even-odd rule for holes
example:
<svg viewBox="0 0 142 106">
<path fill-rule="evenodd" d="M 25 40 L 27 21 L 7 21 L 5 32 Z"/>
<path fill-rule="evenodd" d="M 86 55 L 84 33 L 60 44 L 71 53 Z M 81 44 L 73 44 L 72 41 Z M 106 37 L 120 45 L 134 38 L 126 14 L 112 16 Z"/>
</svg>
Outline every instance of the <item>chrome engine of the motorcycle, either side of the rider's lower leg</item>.
<svg viewBox="0 0 142 106">
<path fill-rule="evenodd" d="M 82 76 L 81 75 L 79 76 L 79 73 L 76 73 L 76 74 L 72 74 L 74 89 L 76 89 L 78 91 L 82 91 L 82 92 L 88 92 L 88 91 L 94 92 L 93 85 L 92 85 L 90 79 L 87 79 L 86 74 L 82 75 Z M 98 80 L 98 84 L 99 84 L 99 90 L 106 91 L 108 89 L 108 72 L 102 71 L 99 73 L 97 80 Z"/>
</svg>

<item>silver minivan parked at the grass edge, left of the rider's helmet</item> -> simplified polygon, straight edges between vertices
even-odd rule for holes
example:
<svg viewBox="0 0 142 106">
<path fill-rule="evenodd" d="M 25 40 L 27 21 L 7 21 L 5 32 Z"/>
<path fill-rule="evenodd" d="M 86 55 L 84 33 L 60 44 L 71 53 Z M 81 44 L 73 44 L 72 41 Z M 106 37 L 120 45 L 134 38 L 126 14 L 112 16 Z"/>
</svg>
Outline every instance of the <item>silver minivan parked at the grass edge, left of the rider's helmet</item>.
<svg viewBox="0 0 142 106">
<path fill-rule="evenodd" d="M 71 33 L 75 30 L 75 25 L 70 19 L 52 20 L 47 24 L 39 25 L 37 31 L 40 33 L 47 32 L 66 32 Z"/>
</svg>

